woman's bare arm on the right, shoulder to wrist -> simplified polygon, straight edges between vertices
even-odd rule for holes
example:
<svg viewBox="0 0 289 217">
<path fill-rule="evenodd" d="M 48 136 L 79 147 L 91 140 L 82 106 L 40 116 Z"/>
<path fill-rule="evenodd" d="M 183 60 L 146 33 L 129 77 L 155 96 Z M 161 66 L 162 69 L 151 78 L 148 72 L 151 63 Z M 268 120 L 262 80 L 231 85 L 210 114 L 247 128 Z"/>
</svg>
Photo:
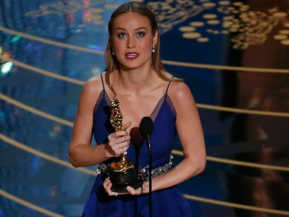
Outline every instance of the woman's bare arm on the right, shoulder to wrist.
<svg viewBox="0 0 289 217">
<path fill-rule="evenodd" d="M 176 126 L 184 160 L 170 171 L 153 178 L 153 191 L 186 181 L 204 171 L 206 165 L 205 141 L 193 95 L 188 86 L 180 82 L 172 82 L 170 92 L 177 112 Z"/>
</svg>

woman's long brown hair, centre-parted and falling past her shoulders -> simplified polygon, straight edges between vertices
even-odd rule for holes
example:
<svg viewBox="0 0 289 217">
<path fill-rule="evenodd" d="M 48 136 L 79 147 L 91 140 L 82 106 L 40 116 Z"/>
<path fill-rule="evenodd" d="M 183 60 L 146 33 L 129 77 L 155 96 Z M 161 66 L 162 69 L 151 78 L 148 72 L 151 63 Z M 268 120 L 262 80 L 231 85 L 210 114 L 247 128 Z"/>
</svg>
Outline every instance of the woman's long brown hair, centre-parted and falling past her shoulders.
<svg viewBox="0 0 289 217">
<path fill-rule="evenodd" d="M 156 17 L 151 12 L 151 10 L 145 6 L 142 3 L 131 1 L 128 3 L 124 3 L 121 6 L 119 6 L 111 15 L 110 20 L 108 22 L 108 34 L 109 38 L 112 37 L 112 25 L 114 22 L 114 19 L 124 13 L 128 12 L 135 12 L 140 15 L 143 15 L 149 19 L 150 26 L 151 26 L 151 32 L 153 35 L 156 34 L 156 31 L 158 31 L 158 23 L 156 22 Z M 108 44 L 106 46 L 105 50 L 105 63 L 106 63 L 106 74 L 105 74 L 105 82 L 107 83 L 110 90 L 114 93 L 114 97 L 116 96 L 116 92 L 114 91 L 112 84 L 110 83 L 110 74 L 114 70 L 120 70 L 119 62 L 115 55 L 112 55 L 112 47 L 110 45 L 110 40 L 108 40 Z M 160 55 L 160 35 L 158 34 L 158 40 L 155 45 L 155 52 L 151 55 L 151 67 L 156 71 L 156 74 L 163 79 L 164 81 L 183 81 L 183 79 L 179 78 L 168 78 L 163 74 L 163 71 L 165 71 L 163 64 L 161 62 L 161 55 Z"/>
</svg>

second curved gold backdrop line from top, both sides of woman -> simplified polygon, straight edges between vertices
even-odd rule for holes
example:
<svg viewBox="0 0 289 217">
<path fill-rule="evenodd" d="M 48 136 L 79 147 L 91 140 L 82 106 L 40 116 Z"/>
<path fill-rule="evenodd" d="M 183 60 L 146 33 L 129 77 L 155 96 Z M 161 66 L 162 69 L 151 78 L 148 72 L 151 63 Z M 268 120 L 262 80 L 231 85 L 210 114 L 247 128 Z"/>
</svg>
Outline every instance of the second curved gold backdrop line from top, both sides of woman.
<svg viewBox="0 0 289 217">
<path fill-rule="evenodd" d="M 15 65 L 22 67 L 24 69 L 28 69 L 31 71 L 35 71 L 36 73 L 43 74 L 45 76 L 50 76 L 55 79 L 71 82 L 77 85 L 83 85 L 85 82 L 80 81 L 78 79 L 74 78 L 68 78 L 66 76 L 58 75 L 54 72 L 46 71 L 43 69 L 39 69 L 36 67 L 32 67 L 30 65 L 24 64 L 22 62 L 19 62 L 17 60 L 14 60 L 12 58 L 4 57 L 3 55 L 0 55 L 0 59 L 4 61 L 9 61 L 15 63 Z M 204 109 L 210 109 L 210 110 L 216 110 L 216 111 L 228 111 L 228 112 L 234 112 L 234 113 L 244 113 L 244 114 L 255 114 L 255 115 L 267 115 L 267 116 L 277 116 L 277 117 L 289 117 L 289 113 L 285 112 L 274 112 L 274 111 L 260 111 L 260 110 L 251 110 L 251 109 L 243 109 L 243 108 L 230 108 L 230 107 L 224 107 L 224 106 L 214 106 L 214 105 L 207 105 L 207 104 L 200 104 L 196 103 L 196 106 L 198 108 L 204 108 Z"/>
</svg>

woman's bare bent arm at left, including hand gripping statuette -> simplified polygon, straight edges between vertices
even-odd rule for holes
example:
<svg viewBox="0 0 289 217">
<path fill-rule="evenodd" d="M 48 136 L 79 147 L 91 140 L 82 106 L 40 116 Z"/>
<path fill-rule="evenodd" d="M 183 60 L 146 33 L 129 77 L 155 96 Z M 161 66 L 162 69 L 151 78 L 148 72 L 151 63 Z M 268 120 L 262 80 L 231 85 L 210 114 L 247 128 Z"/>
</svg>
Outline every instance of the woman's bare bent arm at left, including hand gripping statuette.
<svg viewBox="0 0 289 217">
<path fill-rule="evenodd" d="M 125 131 L 110 134 L 108 143 L 91 146 L 93 109 L 101 90 L 100 76 L 89 79 L 82 88 L 68 151 L 68 160 L 74 167 L 99 164 L 112 156 L 120 155 L 122 148 L 128 148 L 130 136 L 124 136 Z M 130 124 L 131 122 L 123 127 Z"/>
</svg>

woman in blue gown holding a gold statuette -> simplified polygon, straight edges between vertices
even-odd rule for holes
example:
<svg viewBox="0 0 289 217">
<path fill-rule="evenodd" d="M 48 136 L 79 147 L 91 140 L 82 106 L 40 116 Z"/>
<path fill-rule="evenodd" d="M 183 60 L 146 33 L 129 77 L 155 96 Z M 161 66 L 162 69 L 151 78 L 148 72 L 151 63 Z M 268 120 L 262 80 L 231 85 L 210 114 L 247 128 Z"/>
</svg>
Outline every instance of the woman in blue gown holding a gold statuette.
<svg viewBox="0 0 289 217">
<path fill-rule="evenodd" d="M 153 216 L 191 216 L 188 202 L 176 187 L 202 172 L 206 164 L 202 127 L 191 91 L 181 79 L 164 71 L 157 23 L 145 5 L 121 5 L 112 13 L 108 32 L 107 68 L 83 86 L 69 162 L 74 167 L 107 164 L 127 151 L 128 159 L 146 169 L 148 150 L 142 145 L 138 126 L 144 116 L 150 116 L 154 120 L 152 169 L 170 167 L 177 133 L 184 150 L 180 164 L 152 179 Z M 113 132 L 109 122 L 110 99 L 114 97 L 120 102 L 124 131 Z M 91 146 L 92 134 L 97 146 Z M 101 169 L 98 172 L 101 175 L 96 177 L 83 216 L 148 216 L 147 181 L 138 189 L 128 186 L 127 193 L 117 194 L 107 175 Z"/>
</svg>

